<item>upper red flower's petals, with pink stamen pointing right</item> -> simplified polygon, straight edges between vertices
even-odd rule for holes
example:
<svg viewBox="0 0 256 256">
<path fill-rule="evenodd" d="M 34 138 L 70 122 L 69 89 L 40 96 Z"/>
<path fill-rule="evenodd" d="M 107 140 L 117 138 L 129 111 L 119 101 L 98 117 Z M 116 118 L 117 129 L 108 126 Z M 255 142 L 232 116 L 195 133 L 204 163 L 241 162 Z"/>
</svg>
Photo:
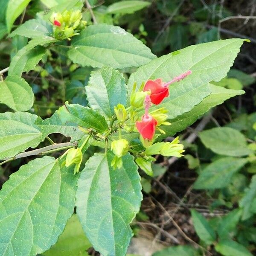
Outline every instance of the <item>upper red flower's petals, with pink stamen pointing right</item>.
<svg viewBox="0 0 256 256">
<path fill-rule="evenodd" d="M 143 91 L 150 91 L 151 102 L 155 105 L 160 104 L 164 98 L 169 96 L 169 87 L 162 82 L 162 79 L 148 80 Z"/>
</svg>

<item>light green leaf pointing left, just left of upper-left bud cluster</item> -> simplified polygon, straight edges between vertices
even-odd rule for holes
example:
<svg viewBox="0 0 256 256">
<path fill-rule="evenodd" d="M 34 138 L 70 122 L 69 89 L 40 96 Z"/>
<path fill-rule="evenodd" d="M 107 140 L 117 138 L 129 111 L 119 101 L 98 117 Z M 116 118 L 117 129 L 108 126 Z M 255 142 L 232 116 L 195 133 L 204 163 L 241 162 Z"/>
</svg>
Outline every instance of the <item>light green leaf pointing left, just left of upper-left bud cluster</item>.
<svg viewBox="0 0 256 256">
<path fill-rule="evenodd" d="M 9 37 L 22 35 L 28 38 L 37 38 L 50 36 L 52 33 L 52 25 L 45 20 L 27 20 L 25 23 L 15 29 Z"/>
</svg>

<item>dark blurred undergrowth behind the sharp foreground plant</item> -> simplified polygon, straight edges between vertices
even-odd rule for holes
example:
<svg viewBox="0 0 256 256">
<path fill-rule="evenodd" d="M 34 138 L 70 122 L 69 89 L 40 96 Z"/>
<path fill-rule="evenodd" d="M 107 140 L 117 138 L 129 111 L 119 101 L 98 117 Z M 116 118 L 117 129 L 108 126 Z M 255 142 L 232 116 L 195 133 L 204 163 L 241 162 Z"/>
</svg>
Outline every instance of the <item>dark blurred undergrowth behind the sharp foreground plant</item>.
<svg viewBox="0 0 256 256">
<path fill-rule="evenodd" d="M 16 25 L 47 12 L 52 2 L 31 1 Z M 154 256 L 256 255 L 256 1 L 148 0 L 144 6 L 134 4 L 128 9 L 115 6 L 118 0 L 85 2 L 83 17 L 88 24 L 94 20 L 121 26 L 157 56 L 219 39 L 250 39 L 227 77 L 215 82 L 246 93 L 178 134 L 185 157 L 156 156 L 154 177 L 142 173 L 144 200 L 132 224 L 135 238 L 129 252 L 141 256 L 155 251 Z M 88 3 L 91 9 L 86 8 Z M 27 44 L 27 38 L 11 40 L 1 28 L 0 37 L 3 69 L 9 66 L 10 56 Z M 72 64 L 66 53 L 64 47 L 55 47 L 34 71 L 23 75 L 36 97 L 32 113 L 49 117 L 66 100 L 87 104 L 84 86 L 93 69 Z M 128 78 L 134 70 L 122 72 Z M 0 105 L 1 113 L 7 110 Z M 51 138 L 65 141 L 59 134 Z M 90 147 L 87 158 L 100 150 Z M 0 186 L 29 160 L 15 160 L 0 168 Z M 212 246 L 217 242 L 218 246 Z M 97 255 L 93 249 L 89 252 Z"/>
</svg>

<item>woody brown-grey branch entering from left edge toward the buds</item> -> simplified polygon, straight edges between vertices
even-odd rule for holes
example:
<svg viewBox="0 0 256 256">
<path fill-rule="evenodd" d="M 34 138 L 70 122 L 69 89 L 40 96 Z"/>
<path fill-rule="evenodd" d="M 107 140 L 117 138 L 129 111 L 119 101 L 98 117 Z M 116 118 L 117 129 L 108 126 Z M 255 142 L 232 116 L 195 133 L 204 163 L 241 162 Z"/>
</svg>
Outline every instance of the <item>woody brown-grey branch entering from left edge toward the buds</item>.
<svg viewBox="0 0 256 256">
<path fill-rule="evenodd" d="M 73 142 L 73 143 L 65 142 L 65 143 L 58 143 L 58 144 L 54 143 L 54 144 L 46 146 L 44 148 L 38 148 L 35 150 L 17 154 L 15 157 L 5 158 L 5 159 L 3 159 L 4 161 L 2 163 L 0 163 L 0 166 L 3 165 L 4 163 L 8 163 L 8 162 L 18 159 L 18 158 L 29 157 L 29 156 L 34 156 L 34 155 L 43 155 L 43 154 L 50 153 L 53 151 L 64 150 L 64 149 L 72 148 L 72 147 L 76 147 L 76 146 L 77 146 L 77 142 Z"/>
</svg>

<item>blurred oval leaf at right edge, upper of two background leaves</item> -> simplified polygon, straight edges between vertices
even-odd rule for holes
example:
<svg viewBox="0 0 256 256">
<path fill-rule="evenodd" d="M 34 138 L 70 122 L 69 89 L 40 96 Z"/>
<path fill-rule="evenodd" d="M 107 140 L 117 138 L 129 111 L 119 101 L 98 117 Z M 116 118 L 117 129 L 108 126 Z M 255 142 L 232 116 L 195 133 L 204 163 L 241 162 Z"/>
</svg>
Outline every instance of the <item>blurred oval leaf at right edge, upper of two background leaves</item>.
<svg viewBox="0 0 256 256">
<path fill-rule="evenodd" d="M 202 143 L 216 154 L 241 157 L 251 153 L 244 135 L 233 128 L 212 128 L 201 131 L 199 137 Z"/>
</svg>

